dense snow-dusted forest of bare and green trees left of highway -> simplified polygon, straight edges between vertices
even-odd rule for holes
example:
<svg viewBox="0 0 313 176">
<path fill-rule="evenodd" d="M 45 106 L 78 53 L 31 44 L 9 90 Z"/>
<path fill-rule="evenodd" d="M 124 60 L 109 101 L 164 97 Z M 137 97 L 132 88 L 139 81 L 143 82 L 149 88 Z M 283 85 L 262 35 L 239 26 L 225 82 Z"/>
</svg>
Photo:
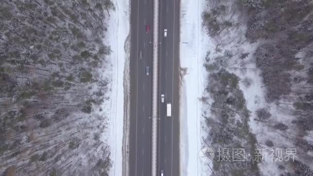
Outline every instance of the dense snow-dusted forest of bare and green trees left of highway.
<svg viewBox="0 0 313 176">
<path fill-rule="evenodd" d="M 109 175 L 110 0 L 0 3 L 0 175 Z"/>
</svg>

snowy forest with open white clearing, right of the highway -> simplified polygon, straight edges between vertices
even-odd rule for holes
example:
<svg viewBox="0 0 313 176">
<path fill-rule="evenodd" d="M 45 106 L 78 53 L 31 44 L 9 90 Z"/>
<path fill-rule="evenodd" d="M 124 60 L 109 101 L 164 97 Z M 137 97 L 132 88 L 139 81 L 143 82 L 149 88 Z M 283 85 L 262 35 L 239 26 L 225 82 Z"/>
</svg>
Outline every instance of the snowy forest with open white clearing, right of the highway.
<svg viewBox="0 0 313 176">
<path fill-rule="evenodd" d="M 214 157 L 207 169 L 313 175 L 313 2 L 214 0 L 206 6 L 202 27 L 215 46 L 203 58 L 203 145 L 216 156 L 221 149 L 245 151 L 242 162 Z M 286 160 L 290 149 L 295 157 Z M 270 159 L 257 151 L 274 152 Z"/>
</svg>

